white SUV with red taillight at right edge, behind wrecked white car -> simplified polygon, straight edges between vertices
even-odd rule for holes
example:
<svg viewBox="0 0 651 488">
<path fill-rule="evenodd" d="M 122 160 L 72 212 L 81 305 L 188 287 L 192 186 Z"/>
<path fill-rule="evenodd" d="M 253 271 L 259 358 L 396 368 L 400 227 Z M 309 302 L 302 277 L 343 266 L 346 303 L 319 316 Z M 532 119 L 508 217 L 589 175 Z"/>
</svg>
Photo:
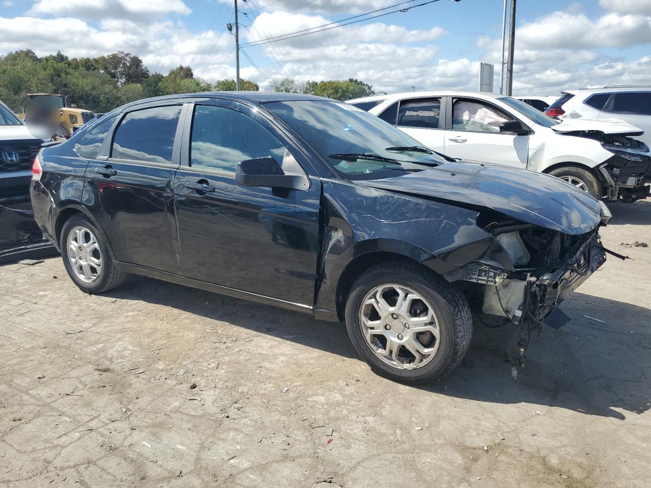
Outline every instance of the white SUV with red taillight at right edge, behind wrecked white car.
<svg viewBox="0 0 651 488">
<path fill-rule="evenodd" d="M 546 111 L 551 117 L 618 118 L 644 131 L 651 146 L 651 85 L 607 85 L 566 90 Z"/>
</svg>

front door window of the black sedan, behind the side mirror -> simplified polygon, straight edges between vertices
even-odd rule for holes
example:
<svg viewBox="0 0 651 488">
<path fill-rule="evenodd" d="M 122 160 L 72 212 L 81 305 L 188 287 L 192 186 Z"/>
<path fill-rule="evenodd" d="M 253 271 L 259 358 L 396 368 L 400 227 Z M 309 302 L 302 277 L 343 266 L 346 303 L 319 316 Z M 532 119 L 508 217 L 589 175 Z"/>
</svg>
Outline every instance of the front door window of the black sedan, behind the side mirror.
<svg viewBox="0 0 651 488">
<path fill-rule="evenodd" d="M 190 166 L 235 172 L 240 161 L 273 157 L 283 163 L 284 144 L 248 115 L 197 105 L 192 122 Z"/>
</svg>

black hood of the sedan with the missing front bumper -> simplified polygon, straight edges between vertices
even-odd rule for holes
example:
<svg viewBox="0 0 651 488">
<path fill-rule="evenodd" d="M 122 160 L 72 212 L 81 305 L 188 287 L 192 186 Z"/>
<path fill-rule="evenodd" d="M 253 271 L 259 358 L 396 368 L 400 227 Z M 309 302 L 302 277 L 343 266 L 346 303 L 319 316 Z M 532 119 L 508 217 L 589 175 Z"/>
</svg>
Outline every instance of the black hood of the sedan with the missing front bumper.
<svg viewBox="0 0 651 488">
<path fill-rule="evenodd" d="M 585 234 L 601 221 L 597 200 L 559 178 L 501 165 L 455 161 L 360 185 L 480 206 L 565 234 Z"/>
</svg>

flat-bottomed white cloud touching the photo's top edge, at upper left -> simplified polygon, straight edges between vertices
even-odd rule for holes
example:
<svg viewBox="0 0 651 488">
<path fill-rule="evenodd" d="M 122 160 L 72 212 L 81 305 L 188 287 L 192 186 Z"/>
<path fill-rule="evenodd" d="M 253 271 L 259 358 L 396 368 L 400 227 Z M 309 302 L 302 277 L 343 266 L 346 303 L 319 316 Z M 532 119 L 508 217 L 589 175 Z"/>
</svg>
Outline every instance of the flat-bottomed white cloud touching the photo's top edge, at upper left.
<svg viewBox="0 0 651 488">
<path fill-rule="evenodd" d="M 183 0 L 37 0 L 29 15 L 74 15 L 83 19 L 148 18 L 176 13 L 187 15 L 190 9 Z"/>
</svg>

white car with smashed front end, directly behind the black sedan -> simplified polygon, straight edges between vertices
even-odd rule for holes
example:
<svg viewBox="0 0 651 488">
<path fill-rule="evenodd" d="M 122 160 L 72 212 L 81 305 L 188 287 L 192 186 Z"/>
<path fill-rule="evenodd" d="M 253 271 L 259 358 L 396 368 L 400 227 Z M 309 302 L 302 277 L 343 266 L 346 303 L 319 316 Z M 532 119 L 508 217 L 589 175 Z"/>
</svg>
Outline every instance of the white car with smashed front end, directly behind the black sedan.
<svg viewBox="0 0 651 488">
<path fill-rule="evenodd" d="M 621 120 L 559 122 L 515 98 L 462 91 L 406 92 L 349 100 L 428 148 L 460 159 L 557 176 L 595 198 L 649 195 L 651 153 Z"/>
</svg>

